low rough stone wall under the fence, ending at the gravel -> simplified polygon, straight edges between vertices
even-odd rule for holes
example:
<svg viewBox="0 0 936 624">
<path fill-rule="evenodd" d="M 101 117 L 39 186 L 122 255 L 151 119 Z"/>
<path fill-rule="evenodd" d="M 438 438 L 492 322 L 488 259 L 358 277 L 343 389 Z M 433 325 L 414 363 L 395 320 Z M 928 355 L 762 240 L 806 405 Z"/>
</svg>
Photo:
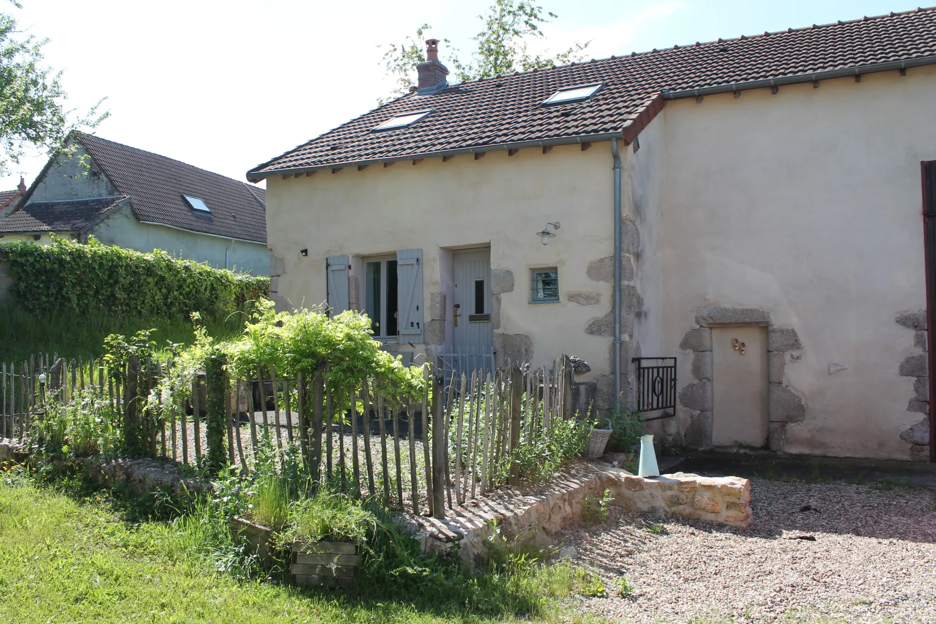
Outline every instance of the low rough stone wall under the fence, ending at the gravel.
<svg viewBox="0 0 936 624">
<path fill-rule="evenodd" d="M 448 512 L 446 520 L 415 515 L 406 515 L 404 520 L 423 552 L 445 551 L 459 544 L 461 561 L 476 566 L 484 561 L 486 540 L 495 523 L 511 538 L 549 545 L 551 533 L 578 520 L 586 498 L 597 501 L 605 490 L 612 505 L 631 511 L 699 518 L 742 529 L 753 521 L 747 479 L 683 472 L 643 478 L 587 461 L 573 465 L 546 486 L 505 487 L 469 501 Z"/>
</svg>

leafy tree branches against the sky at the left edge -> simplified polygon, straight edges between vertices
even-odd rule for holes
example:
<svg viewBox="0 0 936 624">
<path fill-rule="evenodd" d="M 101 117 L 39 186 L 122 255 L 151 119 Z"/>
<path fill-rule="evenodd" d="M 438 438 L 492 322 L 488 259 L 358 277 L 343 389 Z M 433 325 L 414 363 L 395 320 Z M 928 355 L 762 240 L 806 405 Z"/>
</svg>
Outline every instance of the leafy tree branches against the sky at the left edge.
<svg viewBox="0 0 936 624">
<path fill-rule="evenodd" d="M 73 151 L 75 146 L 66 145 L 69 132 L 94 128 L 108 117 L 99 110 L 101 100 L 83 117 L 69 121 L 74 110 L 65 107 L 62 72 L 42 65 L 42 48 L 49 40 L 18 37 L 20 33 L 16 20 L 0 13 L 0 173 L 19 164 L 27 147 L 50 156 Z"/>
</svg>

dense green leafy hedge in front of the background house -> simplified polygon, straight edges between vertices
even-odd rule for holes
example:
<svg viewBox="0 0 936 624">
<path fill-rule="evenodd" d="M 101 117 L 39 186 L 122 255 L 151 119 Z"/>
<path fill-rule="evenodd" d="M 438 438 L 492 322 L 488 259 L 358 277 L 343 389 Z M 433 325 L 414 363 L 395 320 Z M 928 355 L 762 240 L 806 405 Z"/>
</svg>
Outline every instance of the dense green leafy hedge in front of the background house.
<svg viewBox="0 0 936 624">
<path fill-rule="evenodd" d="M 270 278 L 211 268 L 161 250 L 143 254 L 53 237 L 51 245 L 0 243 L 0 262 L 14 278 L 10 292 L 31 312 L 102 311 L 119 316 L 216 317 L 269 297 Z"/>
</svg>

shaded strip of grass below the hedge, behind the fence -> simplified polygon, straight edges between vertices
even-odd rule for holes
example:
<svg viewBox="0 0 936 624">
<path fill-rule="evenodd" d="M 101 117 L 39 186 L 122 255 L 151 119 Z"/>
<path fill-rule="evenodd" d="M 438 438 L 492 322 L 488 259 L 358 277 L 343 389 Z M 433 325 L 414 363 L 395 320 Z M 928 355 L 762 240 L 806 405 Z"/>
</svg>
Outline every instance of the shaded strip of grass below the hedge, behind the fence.
<svg viewBox="0 0 936 624">
<path fill-rule="evenodd" d="M 241 320 L 241 314 L 227 320 L 208 320 L 208 333 L 222 340 L 232 339 L 240 333 Z M 195 340 L 188 319 L 118 318 L 103 312 L 54 310 L 34 314 L 4 302 L 0 304 L 0 362 L 22 362 L 37 353 L 57 353 L 68 359 L 99 357 L 104 355 L 104 338 L 109 334 L 129 335 L 150 327 L 156 328 L 153 338 L 160 345 L 167 340 L 182 344 Z"/>
</svg>

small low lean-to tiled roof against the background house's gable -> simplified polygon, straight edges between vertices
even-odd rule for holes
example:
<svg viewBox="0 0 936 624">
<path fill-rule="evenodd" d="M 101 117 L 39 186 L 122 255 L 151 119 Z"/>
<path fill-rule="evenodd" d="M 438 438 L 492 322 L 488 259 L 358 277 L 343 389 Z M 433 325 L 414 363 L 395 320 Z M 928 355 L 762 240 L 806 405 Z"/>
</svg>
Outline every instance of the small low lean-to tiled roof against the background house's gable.
<svg viewBox="0 0 936 624">
<path fill-rule="evenodd" d="M 0 232 L 80 232 L 104 212 L 124 203 L 125 196 L 34 201 L 0 219 Z"/>
</svg>

